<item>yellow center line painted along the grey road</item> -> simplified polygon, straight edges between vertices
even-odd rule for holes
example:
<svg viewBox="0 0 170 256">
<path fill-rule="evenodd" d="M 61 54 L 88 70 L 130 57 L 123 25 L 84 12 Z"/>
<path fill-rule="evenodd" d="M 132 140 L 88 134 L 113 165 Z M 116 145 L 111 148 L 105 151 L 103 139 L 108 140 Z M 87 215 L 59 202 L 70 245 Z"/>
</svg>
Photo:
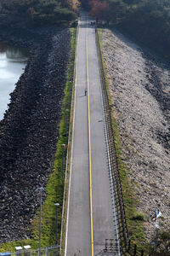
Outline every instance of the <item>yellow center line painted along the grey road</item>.
<svg viewBox="0 0 170 256">
<path fill-rule="evenodd" d="M 94 226 L 93 226 L 93 203 L 92 203 L 92 163 L 91 163 L 91 139 L 90 139 L 90 100 L 89 100 L 89 79 L 88 79 L 88 22 L 86 27 L 86 65 L 88 82 L 88 145 L 89 145 L 89 177 L 90 177 L 90 223 L 92 256 L 94 256 Z"/>
</svg>

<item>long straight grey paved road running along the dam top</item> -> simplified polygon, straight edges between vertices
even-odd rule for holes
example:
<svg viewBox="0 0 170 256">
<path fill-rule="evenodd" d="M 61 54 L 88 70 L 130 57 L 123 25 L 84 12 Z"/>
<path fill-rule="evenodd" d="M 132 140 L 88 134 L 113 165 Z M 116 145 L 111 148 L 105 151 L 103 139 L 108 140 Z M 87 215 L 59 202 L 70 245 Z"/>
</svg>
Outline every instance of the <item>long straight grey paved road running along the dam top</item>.
<svg viewBox="0 0 170 256">
<path fill-rule="evenodd" d="M 65 256 L 79 251 L 82 256 L 97 255 L 105 238 L 116 238 L 107 162 L 95 31 L 82 15 Z"/>
</svg>

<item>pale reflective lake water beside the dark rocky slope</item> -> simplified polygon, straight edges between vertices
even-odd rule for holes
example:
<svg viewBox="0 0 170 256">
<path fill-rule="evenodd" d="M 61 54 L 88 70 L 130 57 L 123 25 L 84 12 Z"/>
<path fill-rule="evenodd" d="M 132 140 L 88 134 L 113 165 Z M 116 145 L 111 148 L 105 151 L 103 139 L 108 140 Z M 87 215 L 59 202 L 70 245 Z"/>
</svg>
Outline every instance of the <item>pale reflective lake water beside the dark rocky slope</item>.
<svg viewBox="0 0 170 256">
<path fill-rule="evenodd" d="M 9 94 L 14 91 L 15 84 L 26 67 L 28 53 L 0 43 L 0 120 L 8 109 Z"/>
</svg>

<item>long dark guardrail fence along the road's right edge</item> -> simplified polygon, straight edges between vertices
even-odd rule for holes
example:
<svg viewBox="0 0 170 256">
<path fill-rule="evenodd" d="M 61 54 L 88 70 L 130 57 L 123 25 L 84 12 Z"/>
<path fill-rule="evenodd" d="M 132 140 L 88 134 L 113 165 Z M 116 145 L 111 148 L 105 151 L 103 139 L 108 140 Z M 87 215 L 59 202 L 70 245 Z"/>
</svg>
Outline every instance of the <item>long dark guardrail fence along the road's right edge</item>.
<svg viewBox="0 0 170 256">
<path fill-rule="evenodd" d="M 102 93 L 103 93 L 105 128 L 107 132 L 108 148 L 109 148 L 109 154 L 110 154 L 109 164 L 111 166 L 111 173 L 112 173 L 114 199 L 115 199 L 115 205 L 116 205 L 116 221 L 118 226 L 118 236 L 119 236 L 119 242 L 121 247 L 121 253 L 122 255 L 125 255 L 126 253 L 126 255 L 143 256 L 143 255 L 146 255 L 144 254 L 144 251 L 137 250 L 137 246 L 128 239 L 128 235 L 127 235 L 128 233 L 127 233 L 126 215 L 125 215 L 124 203 L 122 198 L 122 184 L 121 184 L 121 180 L 118 172 L 116 147 L 114 142 L 112 122 L 111 122 L 111 106 L 109 103 L 106 84 L 105 84 L 105 71 L 103 67 L 97 28 L 95 28 L 95 38 L 96 38 L 96 46 L 97 46 L 98 61 L 99 61 L 99 72 L 100 72 L 100 79 L 101 79 L 101 86 L 102 86 Z"/>
</svg>

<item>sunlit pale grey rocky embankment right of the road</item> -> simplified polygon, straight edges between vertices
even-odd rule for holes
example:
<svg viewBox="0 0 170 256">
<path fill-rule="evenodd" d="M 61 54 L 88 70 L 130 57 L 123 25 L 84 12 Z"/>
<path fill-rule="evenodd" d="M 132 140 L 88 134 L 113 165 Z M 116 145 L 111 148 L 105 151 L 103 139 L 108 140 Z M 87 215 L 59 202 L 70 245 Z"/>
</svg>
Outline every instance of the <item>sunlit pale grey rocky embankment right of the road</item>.
<svg viewBox="0 0 170 256">
<path fill-rule="evenodd" d="M 109 30 L 103 32 L 103 55 L 127 175 L 150 240 L 156 208 L 163 216 L 160 227 L 170 224 L 170 68 Z"/>
</svg>

